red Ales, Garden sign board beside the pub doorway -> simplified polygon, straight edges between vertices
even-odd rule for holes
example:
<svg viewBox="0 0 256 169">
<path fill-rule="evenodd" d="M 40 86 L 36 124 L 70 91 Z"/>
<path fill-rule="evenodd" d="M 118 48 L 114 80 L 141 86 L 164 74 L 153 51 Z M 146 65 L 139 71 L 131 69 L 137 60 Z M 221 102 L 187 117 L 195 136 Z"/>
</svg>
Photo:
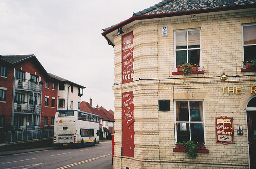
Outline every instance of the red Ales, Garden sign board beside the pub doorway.
<svg viewBox="0 0 256 169">
<path fill-rule="evenodd" d="M 233 117 L 215 117 L 216 143 L 234 143 Z"/>
</svg>

